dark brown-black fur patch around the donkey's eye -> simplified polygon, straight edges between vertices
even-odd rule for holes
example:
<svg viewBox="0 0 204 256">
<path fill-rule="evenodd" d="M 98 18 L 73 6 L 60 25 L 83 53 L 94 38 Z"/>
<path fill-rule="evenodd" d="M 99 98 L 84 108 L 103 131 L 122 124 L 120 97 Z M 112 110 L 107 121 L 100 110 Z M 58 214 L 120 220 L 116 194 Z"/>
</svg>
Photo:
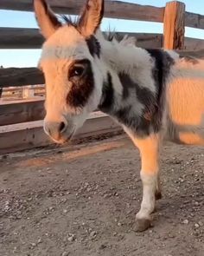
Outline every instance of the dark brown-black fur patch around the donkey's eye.
<svg viewBox="0 0 204 256">
<path fill-rule="evenodd" d="M 72 87 L 67 94 L 67 104 L 72 108 L 83 108 L 94 88 L 92 65 L 87 59 L 73 62 L 72 67 L 69 69 L 69 74 L 72 74 L 72 69 L 76 65 L 83 66 L 85 71 L 80 77 L 69 77 L 68 75 L 69 81 L 72 82 Z"/>
</svg>

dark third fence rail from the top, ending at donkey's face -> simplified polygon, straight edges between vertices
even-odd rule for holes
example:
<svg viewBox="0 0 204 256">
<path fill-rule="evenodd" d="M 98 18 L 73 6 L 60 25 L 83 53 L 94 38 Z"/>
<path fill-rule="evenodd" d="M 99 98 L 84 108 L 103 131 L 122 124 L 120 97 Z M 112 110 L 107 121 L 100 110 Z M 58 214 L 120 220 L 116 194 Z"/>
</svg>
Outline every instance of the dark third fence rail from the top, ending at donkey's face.
<svg viewBox="0 0 204 256">
<path fill-rule="evenodd" d="M 44 77 L 36 68 L 0 69 L 0 88 L 43 83 Z"/>
</svg>

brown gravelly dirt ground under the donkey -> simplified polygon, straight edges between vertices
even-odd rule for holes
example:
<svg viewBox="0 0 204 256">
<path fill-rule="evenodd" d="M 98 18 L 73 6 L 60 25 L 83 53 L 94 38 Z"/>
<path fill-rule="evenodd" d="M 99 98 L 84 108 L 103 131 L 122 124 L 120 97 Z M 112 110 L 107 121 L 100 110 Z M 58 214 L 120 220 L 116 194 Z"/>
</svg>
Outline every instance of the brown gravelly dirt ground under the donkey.
<svg viewBox="0 0 204 256">
<path fill-rule="evenodd" d="M 134 231 L 142 184 L 124 135 L 0 160 L 1 256 L 203 256 L 203 148 L 167 144 L 154 226 Z"/>
</svg>

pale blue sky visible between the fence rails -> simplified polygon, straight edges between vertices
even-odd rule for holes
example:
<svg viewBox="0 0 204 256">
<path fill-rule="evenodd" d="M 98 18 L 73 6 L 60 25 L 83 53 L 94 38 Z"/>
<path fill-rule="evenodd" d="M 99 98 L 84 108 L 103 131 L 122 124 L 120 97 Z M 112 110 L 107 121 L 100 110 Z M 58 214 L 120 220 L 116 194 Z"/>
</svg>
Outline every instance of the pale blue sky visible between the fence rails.
<svg viewBox="0 0 204 256">
<path fill-rule="evenodd" d="M 60 1 L 60 0 L 59 0 Z M 124 0 L 124 2 L 138 3 L 163 7 L 169 1 L 165 0 Z M 203 0 L 181 0 L 186 4 L 189 12 L 204 15 Z M 37 28 L 35 16 L 32 12 L 0 10 L 1 27 Z M 149 23 L 104 18 L 102 30 L 111 28 L 121 32 L 163 33 L 163 23 Z M 0 35 L 1 36 L 1 35 Z M 186 28 L 185 36 L 204 40 L 204 30 Z M 41 49 L 0 49 L 0 65 L 7 67 L 35 67 L 41 54 Z"/>
</svg>

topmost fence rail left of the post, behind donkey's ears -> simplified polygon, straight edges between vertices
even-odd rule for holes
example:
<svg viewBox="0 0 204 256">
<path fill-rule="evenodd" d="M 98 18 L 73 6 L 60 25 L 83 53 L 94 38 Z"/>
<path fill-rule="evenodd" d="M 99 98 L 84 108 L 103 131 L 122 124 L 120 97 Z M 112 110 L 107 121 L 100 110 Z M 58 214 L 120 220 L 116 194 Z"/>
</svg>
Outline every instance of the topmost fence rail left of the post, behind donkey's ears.
<svg viewBox="0 0 204 256">
<path fill-rule="evenodd" d="M 0 9 L 33 11 L 32 0 L 1 0 Z M 48 0 L 57 13 L 78 15 L 85 0 Z M 105 16 L 112 18 L 141 20 L 150 22 L 163 22 L 163 8 L 145 6 L 136 3 L 119 1 L 105 1 Z"/>
</svg>

